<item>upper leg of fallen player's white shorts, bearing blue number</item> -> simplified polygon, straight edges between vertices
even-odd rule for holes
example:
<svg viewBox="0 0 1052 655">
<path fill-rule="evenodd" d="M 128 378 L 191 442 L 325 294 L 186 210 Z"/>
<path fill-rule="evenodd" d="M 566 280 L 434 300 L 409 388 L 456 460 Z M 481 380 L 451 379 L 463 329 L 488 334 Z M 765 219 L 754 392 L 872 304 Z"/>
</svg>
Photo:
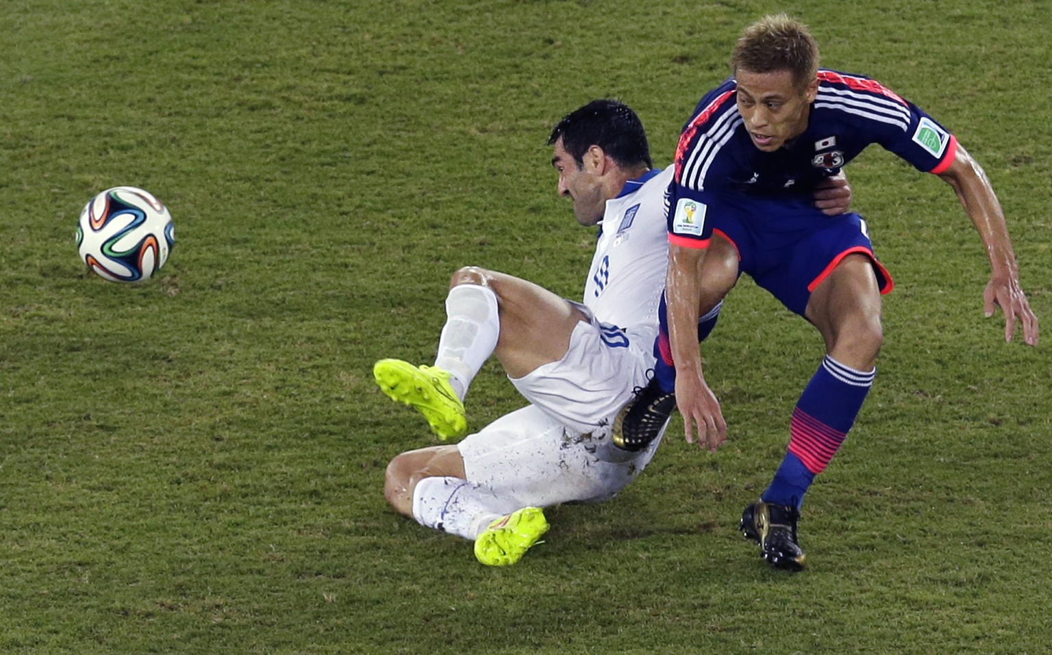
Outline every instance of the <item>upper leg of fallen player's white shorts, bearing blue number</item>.
<svg viewBox="0 0 1052 655">
<path fill-rule="evenodd" d="M 633 391 L 647 384 L 647 370 L 654 367 L 658 327 L 626 332 L 600 323 L 584 305 L 573 305 L 591 321 L 573 328 L 566 355 L 508 380 L 527 401 L 563 425 L 583 434 L 609 433 Z"/>
</svg>

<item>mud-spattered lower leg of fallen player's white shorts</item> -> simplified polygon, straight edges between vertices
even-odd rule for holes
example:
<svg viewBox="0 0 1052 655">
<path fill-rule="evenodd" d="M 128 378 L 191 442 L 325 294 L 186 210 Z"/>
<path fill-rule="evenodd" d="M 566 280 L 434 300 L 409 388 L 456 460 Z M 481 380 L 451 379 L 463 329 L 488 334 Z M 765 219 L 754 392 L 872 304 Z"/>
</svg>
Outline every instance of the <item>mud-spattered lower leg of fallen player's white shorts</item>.
<svg viewBox="0 0 1052 655">
<path fill-rule="evenodd" d="M 628 452 L 611 444 L 609 434 L 576 433 L 530 405 L 501 416 L 457 446 L 468 480 L 488 487 L 515 507 L 549 507 L 612 498 L 650 463 L 661 438 L 644 450 Z"/>
</svg>

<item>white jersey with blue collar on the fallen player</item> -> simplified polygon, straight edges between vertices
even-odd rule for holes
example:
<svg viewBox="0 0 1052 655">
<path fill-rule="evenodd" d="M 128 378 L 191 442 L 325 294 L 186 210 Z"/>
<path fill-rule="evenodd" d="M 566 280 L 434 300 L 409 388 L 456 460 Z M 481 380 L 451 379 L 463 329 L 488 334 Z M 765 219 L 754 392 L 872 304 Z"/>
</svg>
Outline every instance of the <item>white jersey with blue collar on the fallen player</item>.
<svg viewBox="0 0 1052 655">
<path fill-rule="evenodd" d="M 668 266 L 665 189 L 673 167 L 625 185 L 606 201 L 584 305 L 602 323 L 626 330 L 658 324 Z"/>
</svg>

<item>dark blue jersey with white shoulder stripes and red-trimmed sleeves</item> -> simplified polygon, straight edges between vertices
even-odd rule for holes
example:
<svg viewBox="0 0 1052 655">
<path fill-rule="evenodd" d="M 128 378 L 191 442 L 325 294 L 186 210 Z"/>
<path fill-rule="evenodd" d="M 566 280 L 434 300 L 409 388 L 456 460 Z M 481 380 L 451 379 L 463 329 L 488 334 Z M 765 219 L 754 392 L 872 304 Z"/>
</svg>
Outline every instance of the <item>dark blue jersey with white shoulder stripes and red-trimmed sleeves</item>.
<svg viewBox="0 0 1052 655">
<path fill-rule="evenodd" d="M 672 244 L 705 247 L 720 229 L 723 201 L 734 197 L 810 206 L 814 185 L 872 143 L 933 173 L 956 153 L 956 139 L 916 105 L 875 80 L 828 69 L 818 71 L 804 134 L 765 152 L 749 138 L 735 89 L 729 79 L 709 91 L 684 127 L 666 199 Z"/>
</svg>

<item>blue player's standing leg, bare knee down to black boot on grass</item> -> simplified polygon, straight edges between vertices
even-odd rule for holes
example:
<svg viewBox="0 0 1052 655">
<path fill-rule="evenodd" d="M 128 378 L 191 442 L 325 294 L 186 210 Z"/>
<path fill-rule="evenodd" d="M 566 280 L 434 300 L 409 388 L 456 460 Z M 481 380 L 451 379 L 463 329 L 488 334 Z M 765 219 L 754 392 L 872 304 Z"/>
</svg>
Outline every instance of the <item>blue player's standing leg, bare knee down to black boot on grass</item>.
<svg viewBox="0 0 1052 655">
<path fill-rule="evenodd" d="M 826 357 L 793 409 L 785 457 L 761 502 L 746 508 L 742 528 L 764 558 L 789 570 L 806 555 L 796 521 L 815 475 L 844 443 L 869 393 L 883 341 L 881 289 L 868 253 L 845 257 L 811 293 L 805 312 L 826 343 Z"/>
</svg>

